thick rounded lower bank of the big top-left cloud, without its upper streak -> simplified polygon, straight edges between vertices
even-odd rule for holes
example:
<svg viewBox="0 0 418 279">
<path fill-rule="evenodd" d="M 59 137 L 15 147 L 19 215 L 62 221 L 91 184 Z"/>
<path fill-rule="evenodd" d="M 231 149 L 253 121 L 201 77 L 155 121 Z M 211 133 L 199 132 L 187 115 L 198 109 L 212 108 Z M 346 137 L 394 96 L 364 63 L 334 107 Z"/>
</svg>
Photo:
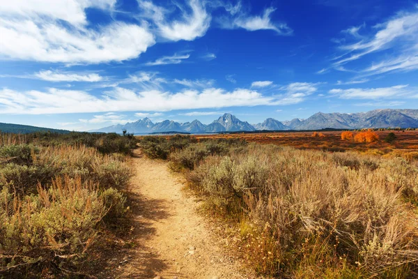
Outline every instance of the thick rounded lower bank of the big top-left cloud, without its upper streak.
<svg viewBox="0 0 418 279">
<path fill-rule="evenodd" d="M 114 22 L 99 31 L 67 29 L 57 22 L 0 18 L 0 56 L 64 63 L 133 59 L 154 45 L 144 27 Z"/>
</svg>

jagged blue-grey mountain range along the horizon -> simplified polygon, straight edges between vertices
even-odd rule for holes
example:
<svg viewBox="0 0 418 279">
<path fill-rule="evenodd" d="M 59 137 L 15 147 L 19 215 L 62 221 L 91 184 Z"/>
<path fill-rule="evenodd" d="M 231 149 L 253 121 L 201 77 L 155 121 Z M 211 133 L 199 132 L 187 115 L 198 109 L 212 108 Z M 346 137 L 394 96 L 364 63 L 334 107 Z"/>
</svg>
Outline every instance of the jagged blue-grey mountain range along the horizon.
<svg viewBox="0 0 418 279">
<path fill-rule="evenodd" d="M 172 120 L 164 120 L 153 123 L 148 118 L 140 119 L 125 125 L 114 125 L 94 132 L 102 133 L 127 133 L 146 134 L 163 132 L 186 133 L 221 133 L 235 131 L 254 130 L 320 130 L 324 128 L 357 129 L 357 128 L 418 128 L 418 110 L 372 110 L 370 112 L 323 113 L 318 112 L 308 119 L 293 119 L 291 121 L 277 121 L 268 118 L 263 123 L 249 124 L 241 121 L 232 114 L 224 114 L 219 119 L 205 125 L 199 120 L 178 123 Z"/>
</svg>

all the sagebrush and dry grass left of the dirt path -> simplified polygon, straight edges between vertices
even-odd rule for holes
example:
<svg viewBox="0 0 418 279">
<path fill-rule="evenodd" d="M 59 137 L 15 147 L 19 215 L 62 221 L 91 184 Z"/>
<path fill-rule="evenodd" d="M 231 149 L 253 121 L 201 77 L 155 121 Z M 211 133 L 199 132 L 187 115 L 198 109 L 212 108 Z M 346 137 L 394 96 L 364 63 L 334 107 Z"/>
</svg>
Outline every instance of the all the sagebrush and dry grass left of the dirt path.
<svg viewBox="0 0 418 279">
<path fill-rule="evenodd" d="M 135 141 L 0 134 L 0 276 L 85 276 L 102 233 L 125 225 L 124 154 Z"/>
</svg>

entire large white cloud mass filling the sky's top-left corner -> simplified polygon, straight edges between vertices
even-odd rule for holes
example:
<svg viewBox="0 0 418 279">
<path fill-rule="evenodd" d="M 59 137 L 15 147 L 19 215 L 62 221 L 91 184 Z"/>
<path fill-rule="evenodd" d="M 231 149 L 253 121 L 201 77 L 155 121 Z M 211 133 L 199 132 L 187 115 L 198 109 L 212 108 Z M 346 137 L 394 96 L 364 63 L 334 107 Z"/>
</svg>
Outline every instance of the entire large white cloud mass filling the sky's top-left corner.
<svg viewBox="0 0 418 279">
<path fill-rule="evenodd" d="M 17 0 L 1 3 L 0 58 L 63 63 L 125 61 L 155 38 L 144 23 L 112 22 L 89 29 L 86 8 L 111 9 L 115 0 Z"/>
</svg>

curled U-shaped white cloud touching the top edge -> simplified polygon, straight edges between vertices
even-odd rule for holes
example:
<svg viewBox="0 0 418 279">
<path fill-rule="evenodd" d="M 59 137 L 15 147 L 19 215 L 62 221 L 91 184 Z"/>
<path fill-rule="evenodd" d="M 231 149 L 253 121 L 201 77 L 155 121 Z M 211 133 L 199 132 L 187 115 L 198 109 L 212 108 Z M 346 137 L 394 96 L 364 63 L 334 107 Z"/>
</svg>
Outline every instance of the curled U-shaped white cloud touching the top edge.
<svg viewBox="0 0 418 279">
<path fill-rule="evenodd" d="M 160 36 L 168 40 L 194 40 L 206 34 L 210 27 L 210 14 L 200 0 L 189 0 L 187 8 L 178 7 L 183 13 L 181 20 L 167 21 L 167 9 L 155 6 L 151 1 L 139 0 L 139 5 L 144 9 L 146 16 L 150 17 L 157 26 Z"/>
</svg>

